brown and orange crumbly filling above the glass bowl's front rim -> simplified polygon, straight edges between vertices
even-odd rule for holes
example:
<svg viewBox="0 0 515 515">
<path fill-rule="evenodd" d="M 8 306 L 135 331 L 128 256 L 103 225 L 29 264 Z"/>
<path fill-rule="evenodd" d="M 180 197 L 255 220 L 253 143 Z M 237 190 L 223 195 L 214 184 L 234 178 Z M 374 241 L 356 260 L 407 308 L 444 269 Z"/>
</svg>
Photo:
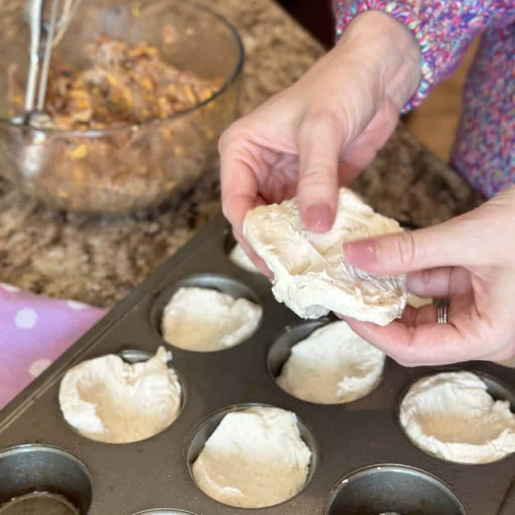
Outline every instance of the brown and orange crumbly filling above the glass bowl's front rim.
<svg viewBox="0 0 515 515">
<path fill-rule="evenodd" d="M 55 56 L 45 112 L 60 130 L 100 130 L 164 119 L 211 98 L 222 79 L 205 80 L 165 63 L 145 42 L 99 37 L 84 48 L 89 65 L 75 69 Z M 11 115 L 23 111 L 25 84 L 18 63 L 9 67 Z M 87 149 L 76 149 L 79 154 Z"/>
</svg>

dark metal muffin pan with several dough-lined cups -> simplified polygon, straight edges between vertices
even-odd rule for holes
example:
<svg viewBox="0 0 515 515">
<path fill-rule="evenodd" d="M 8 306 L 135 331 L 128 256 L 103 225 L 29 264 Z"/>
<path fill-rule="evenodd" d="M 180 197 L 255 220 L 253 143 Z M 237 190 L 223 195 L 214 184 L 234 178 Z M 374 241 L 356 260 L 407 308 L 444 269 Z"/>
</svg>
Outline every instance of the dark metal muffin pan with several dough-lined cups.
<svg viewBox="0 0 515 515">
<path fill-rule="evenodd" d="M 311 404 L 281 390 L 272 376 L 288 350 L 282 349 L 275 358 L 269 351 L 279 335 L 286 328 L 293 330 L 300 320 L 274 300 L 267 279 L 228 260 L 230 239 L 227 222 L 220 215 L 114 307 L 0 411 L 0 447 L 28 444 L 23 448 L 28 456 L 44 443 L 83 462 L 84 477 L 91 482 L 81 483 L 80 495 L 68 488 L 73 483 L 69 470 L 54 464 L 52 457 L 48 463 L 55 482 L 42 485 L 65 496 L 82 515 L 243 515 L 249 511 L 266 515 L 379 515 L 388 511 L 400 515 L 497 515 L 501 506 L 504 515 L 506 507 L 513 506 L 509 492 L 515 482 L 515 456 L 487 465 L 462 466 L 425 454 L 403 434 L 398 406 L 406 386 L 441 367 L 404 368 L 388 360 L 380 385 L 348 404 Z M 221 284 L 243 285 L 245 296 L 249 292 L 251 297 L 255 295 L 263 307 L 258 330 L 242 344 L 221 352 L 199 353 L 165 345 L 173 353 L 171 364 L 187 396 L 180 417 L 162 433 L 127 444 L 80 436 L 59 409 L 59 382 L 66 370 L 108 353 L 130 350 L 124 357 L 135 355 L 136 361 L 144 352 L 155 353 L 164 344 L 159 313 L 166 295 L 184 281 L 199 277 L 220 288 Z M 313 324 L 315 327 L 317 322 Z M 486 362 L 458 367 L 488 374 L 508 392 L 515 390 L 511 369 Z M 495 395 L 503 397 L 507 391 L 499 389 Z M 302 421 L 303 438 L 316 449 L 313 475 L 305 488 L 289 501 L 257 510 L 214 501 L 197 488 L 190 474 L 192 460 L 216 426 L 217 417 L 224 410 L 248 404 L 294 411 Z M 6 452 L 10 450 L 0 456 Z M 38 462 L 37 454 L 32 456 Z M 8 469 L 8 462 L 0 459 L 0 492 L 4 495 L 0 503 L 13 495 L 5 486 Z M 24 482 L 22 475 L 14 477 L 14 485 L 19 486 L 15 495 L 40 489 L 31 480 Z M 84 503 L 89 495 L 91 506 Z M 406 497 L 417 495 L 418 504 L 406 505 Z M 379 504 L 367 503 L 367 498 L 379 500 Z M 376 508 L 380 511 L 375 512 Z M 410 511 L 403 511 L 406 509 Z"/>
</svg>

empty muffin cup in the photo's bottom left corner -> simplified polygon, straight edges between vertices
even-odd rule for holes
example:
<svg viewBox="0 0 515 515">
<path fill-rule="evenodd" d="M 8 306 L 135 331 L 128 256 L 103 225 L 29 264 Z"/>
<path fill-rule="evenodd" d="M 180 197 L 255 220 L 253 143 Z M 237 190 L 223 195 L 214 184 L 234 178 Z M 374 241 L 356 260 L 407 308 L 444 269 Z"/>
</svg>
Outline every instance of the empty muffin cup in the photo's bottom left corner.
<svg viewBox="0 0 515 515">
<path fill-rule="evenodd" d="M 87 515 L 93 478 L 74 455 L 44 444 L 0 451 L 0 513 Z"/>
</svg>

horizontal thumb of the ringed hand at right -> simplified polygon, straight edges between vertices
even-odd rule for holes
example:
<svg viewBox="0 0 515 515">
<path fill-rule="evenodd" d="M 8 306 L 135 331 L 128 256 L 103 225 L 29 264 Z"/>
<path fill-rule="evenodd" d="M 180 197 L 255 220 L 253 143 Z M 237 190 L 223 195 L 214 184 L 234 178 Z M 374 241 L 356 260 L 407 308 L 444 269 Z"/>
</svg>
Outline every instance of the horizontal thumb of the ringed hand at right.
<svg viewBox="0 0 515 515">
<path fill-rule="evenodd" d="M 454 218 L 444 224 L 373 239 L 346 243 L 350 264 L 376 274 L 399 274 L 441 266 L 472 266 L 484 261 L 488 245 L 478 242 L 487 233 L 472 219 Z"/>
</svg>

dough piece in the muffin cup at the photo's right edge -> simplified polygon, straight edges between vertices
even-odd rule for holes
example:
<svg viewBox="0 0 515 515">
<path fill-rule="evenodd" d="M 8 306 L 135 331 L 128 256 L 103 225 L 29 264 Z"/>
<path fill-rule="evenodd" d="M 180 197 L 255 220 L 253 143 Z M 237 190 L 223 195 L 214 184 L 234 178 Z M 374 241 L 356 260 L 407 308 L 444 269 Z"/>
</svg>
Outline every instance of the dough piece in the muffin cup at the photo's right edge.
<svg viewBox="0 0 515 515">
<path fill-rule="evenodd" d="M 457 463 L 489 463 L 515 452 L 515 415 L 471 372 L 417 381 L 404 397 L 401 424 L 420 449 Z"/>
</svg>

